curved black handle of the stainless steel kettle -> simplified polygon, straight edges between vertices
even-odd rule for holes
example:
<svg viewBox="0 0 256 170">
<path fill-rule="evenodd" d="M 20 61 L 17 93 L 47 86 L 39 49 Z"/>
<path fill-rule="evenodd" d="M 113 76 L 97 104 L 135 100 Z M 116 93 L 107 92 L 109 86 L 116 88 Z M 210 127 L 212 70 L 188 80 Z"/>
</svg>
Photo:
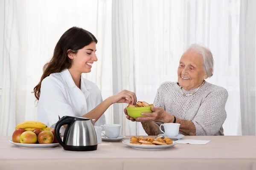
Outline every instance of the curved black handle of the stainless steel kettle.
<svg viewBox="0 0 256 170">
<path fill-rule="evenodd" d="M 60 134 L 60 129 L 61 126 L 63 125 L 67 125 L 67 130 L 70 127 L 69 125 L 76 120 L 76 117 L 71 117 L 71 116 L 63 116 L 61 119 L 58 120 L 58 122 L 55 125 L 54 128 L 54 133 L 55 133 L 55 137 L 57 139 L 57 141 L 59 142 L 59 144 L 61 144 L 62 147 L 65 146 L 65 144 L 62 142 L 61 136 L 58 135 Z M 65 130 L 66 131 L 66 130 Z"/>
</svg>

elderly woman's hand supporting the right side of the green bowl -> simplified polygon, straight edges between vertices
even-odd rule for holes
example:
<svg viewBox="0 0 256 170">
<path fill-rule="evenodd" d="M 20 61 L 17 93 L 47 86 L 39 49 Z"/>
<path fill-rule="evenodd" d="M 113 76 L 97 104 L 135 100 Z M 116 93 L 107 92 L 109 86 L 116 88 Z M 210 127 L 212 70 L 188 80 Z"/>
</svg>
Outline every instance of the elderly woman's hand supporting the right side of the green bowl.
<svg viewBox="0 0 256 170">
<path fill-rule="evenodd" d="M 141 115 L 145 117 L 138 117 L 137 122 L 151 122 L 151 121 L 160 121 L 160 122 L 172 122 L 173 116 L 163 110 L 163 108 L 151 107 L 151 112 L 143 112 Z"/>
</svg>

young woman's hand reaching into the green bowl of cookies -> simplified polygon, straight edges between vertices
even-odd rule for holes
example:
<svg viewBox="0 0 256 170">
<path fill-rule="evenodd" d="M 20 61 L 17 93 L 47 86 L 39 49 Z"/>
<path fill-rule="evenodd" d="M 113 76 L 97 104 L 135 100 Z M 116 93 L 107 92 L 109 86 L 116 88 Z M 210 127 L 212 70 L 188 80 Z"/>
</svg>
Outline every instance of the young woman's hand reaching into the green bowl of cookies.
<svg viewBox="0 0 256 170">
<path fill-rule="evenodd" d="M 130 105 L 135 105 L 137 102 L 137 97 L 135 93 L 127 90 L 123 90 L 119 92 L 118 94 L 115 94 L 113 96 L 110 96 L 109 99 L 113 103 L 127 103 Z"/>
</svg>

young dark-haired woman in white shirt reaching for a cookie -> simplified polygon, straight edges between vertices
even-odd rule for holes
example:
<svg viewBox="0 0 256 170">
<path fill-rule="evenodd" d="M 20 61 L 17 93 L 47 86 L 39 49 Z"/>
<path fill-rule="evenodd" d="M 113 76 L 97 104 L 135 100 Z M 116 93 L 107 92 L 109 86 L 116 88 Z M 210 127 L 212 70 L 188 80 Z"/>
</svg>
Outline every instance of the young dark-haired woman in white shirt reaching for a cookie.
<svg viewBox="0 0 256 170">
<path fill-rule="evenodd" d="M 89 73 L 98 60 L 96 43 L 93 34 L 82 28 L 72 27 L 61 36 L 34 88 L 38 121 L 54 128 L 59 117 L 82 116 L 96 119 L 95 125 L 99 126 L 106 123 L 104 112 L 113 103 L 137 102 L 136 95 L 127 90 L 103 101 L 97 85 L 81 76 Z"/>
</svg>

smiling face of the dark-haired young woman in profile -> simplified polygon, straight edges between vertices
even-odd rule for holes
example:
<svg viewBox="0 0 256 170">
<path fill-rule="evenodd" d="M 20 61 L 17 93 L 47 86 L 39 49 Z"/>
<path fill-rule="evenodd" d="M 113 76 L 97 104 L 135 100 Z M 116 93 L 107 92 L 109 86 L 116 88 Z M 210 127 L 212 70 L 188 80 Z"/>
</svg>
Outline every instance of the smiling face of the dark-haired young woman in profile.
<svg viewBox="0 0 256 170">
<path fill-rule="evenodd" d="M 71 68 L 79 73 L 89 73 L 93 62 L 98 61 L 95 52 L 95 42 L 91 42 L 89 45 L 78 50 L 76 54 L 68 51 L 68 57 L 72 59 Z"/>
</svg>

